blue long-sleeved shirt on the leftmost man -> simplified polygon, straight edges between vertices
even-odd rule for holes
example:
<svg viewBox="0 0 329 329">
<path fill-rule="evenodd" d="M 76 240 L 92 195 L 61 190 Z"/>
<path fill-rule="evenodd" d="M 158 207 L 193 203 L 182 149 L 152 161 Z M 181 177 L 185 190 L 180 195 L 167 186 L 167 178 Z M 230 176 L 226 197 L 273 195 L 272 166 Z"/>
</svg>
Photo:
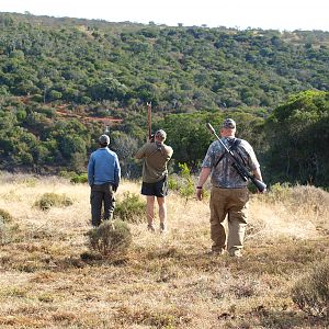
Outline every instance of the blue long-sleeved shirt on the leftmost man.
<svg viewBox="0 0 329 329">
<path fill-rule="evenodd" d="M 91 154 L 88 163 L 89 185 L 111 183 L 118 186 L 121 168 L 117 155 L 107 147 L 102 147 Z"/>
</svg>

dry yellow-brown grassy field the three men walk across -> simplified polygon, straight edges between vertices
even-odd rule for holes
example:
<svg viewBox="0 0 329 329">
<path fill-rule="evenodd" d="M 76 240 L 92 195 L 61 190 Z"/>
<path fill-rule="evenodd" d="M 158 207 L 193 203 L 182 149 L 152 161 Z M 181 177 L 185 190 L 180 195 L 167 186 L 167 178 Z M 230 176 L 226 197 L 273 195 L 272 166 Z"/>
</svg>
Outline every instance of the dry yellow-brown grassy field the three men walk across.
<svg viewBox="0 0 329 329">
<path fill-rule="evenodd" d="M 124 192 L 139 184 L 124 182 Z M 290 192 L 287 192 L 290 191 Z M 126 256 L 86 259 L 89 186 L 0 174 L 0 328 L 329 328 L 291 288 L 329 254 L 329 193 L 310 188 L 253 195 L 241 259 L 207 256 L 208 202 L 171 193 L 169 232 L 129 224 Z M 44 193 L 72 205 L 44 212 Z"/>
</svg>

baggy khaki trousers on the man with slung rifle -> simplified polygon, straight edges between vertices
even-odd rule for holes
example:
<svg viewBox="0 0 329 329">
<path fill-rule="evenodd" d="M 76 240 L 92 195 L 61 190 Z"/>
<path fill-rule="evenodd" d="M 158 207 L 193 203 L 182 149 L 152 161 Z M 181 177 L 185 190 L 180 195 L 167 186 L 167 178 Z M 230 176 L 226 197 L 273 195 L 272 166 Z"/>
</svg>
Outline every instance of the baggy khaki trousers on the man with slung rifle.
<svg viewBox="0 0 329 329">
<path fill-rule="evenodd" d="M 212 188 L 211 194 L 211 238 L 212 250 L 223 251 L 226 248 L 234 253 L 243 247 L 249 201 L 248 189 Z M 228 231 L 224 226 L 227 215 Z"/>
</svg>

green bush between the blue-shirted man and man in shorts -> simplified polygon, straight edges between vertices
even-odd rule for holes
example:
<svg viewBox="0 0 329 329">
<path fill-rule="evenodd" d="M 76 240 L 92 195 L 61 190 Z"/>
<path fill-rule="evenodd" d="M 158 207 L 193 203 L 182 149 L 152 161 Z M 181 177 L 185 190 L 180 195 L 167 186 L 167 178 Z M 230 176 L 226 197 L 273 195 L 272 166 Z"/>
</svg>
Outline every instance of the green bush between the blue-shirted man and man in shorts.
<svg viewBox="0 0 329 329">
<path fill-rule="evenodd" d="M 114 217 L 124 222 L 140 223 L 144 220 L 146 202 L 141 201 L 138 194 L 125 192 L 123 200 L 115 206 Z"/>
</svg>

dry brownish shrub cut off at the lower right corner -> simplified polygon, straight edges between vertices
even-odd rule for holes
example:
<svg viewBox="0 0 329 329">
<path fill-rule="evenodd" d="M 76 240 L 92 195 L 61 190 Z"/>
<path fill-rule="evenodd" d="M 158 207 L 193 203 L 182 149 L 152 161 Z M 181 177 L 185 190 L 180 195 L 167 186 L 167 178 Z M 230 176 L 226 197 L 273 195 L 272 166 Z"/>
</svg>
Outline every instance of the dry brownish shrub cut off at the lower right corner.
<svg viewBox="0 0 329 329">
<path fill-rule="evenodd" d="M 311 272 L 296 282 L 292 299 L 303 311 L 329 318 L 329 260 L 315 264 Z"/>
</svg>

